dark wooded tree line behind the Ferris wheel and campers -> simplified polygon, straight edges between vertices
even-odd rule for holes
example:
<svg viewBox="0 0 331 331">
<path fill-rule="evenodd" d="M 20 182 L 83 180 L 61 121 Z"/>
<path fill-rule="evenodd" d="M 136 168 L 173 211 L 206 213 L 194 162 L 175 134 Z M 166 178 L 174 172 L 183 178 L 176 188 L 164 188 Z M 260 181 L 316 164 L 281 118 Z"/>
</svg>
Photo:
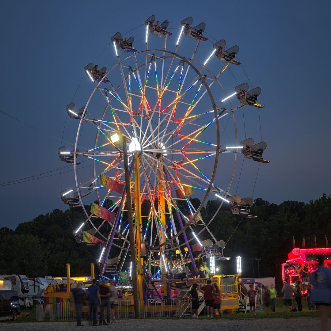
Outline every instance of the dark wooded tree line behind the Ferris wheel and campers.
<svg viewBox="0 0 331 331">
<path fill-rule="evenodd" d="M 194 207 L 200 205 L 199 199 L 190 200 Z M 111 205 L 112 201 L 108 200 L 105 207 Z M 89 211 L 90 206 L 85 207 Z M 219 200 L 209 200 L 201 210 L 203 220 L 208 223 L 218 207 Z M 184 206 L 182 208 L 185 209 Z M 145 200 L 142 214 L 148 215 L 149 210 L 150 202 Z M 287 254 L 293 248 L 293 237 L 295 247 L 298 248 L 301 248 L 304 236 L 306 248 L 314 247 L 314 236 L 317 247 L 325 247 L 325 235 L 331 239 L 331 195 L 323 194 L 320 199 L 309 203 L 285 201 L 279 205 L 257 198 L 250 214 L 257 218 L 233 215 L 224 204 L 209 225 L 217 240 L 224 240 L 226 243 L 224 256 L 231 258 L 216 262 L 216 267 L 222 274 L 236 273 L 236 257 L 241 256 L 242 276 L 253 277 L 251 259 L 259 258 L 260 277 L 276 277 L 276 283 L 280 283 L 281 264 L 287 260 Z M 176 222 L 176 216 L 174 217 Z M 83 220 L 85 217 L 82 209 L 71 207 L 66 211 L 56 209 L 46 215 L 39 215 L 32 221 L 20 223 L 15 230 L 2 227 L 0 274 L 65 276 L 66 263 L 70 263 L 72 276 L 89 275 L 90 263 L 95 263 L 99 258 L 100 248 L 99 244 L 86 247 L 76 243 L 73 230 Z M 123 229 L 125 220 L 127 222 L 124 214 Z M 107 233 L 107 229 L 103 231 Z M 210 235 L 204 231 L 200 239 L 210 239 Z M 118 256 L 118 253 L 119 249 L 112 248 L 109 258 Z M 253 263 L 257 277 L 258 264 L 254 260 Z"/>
</svg>

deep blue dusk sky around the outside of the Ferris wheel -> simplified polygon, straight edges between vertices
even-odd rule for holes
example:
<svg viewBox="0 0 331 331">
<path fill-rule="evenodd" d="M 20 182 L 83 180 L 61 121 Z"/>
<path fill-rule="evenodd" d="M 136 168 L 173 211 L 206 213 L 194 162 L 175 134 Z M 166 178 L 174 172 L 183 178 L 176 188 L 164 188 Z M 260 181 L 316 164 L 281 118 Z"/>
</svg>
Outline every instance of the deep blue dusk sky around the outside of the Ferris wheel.
<svg viewBox="0 0 331 331">
<path fill-rule="evenodd" d="M 60 162 L 57 149 L 73 149 L 79 123 L 67 118 L 66 105 L 73 100 L 81 108 L 92 93 L 94 84 L 84 74 L 88 63 L 99 69 L 116 63 L 108 46 L 116 32 L 134 36 L 138 51 L 146 48 L 143 24 L 151 15 L 170 22 L 170 51 L 180 21 L 191 16 L 193 26 L 205 22 L 209 40 L 199 45 L 196 59 L 203 62 L 218 40 L 225 39 L 227 47 L 238 45 L 242 67 L 232 65 L 222 84 L 228 93 L 236 81 L 262 90 L 260 122 L 257 108 L 245 106 L 245 130 L 256 143 L 262 136 L 267 143 L 263 158 L 270 163 L 259 168 L 245 159 L 243 164 L 240 153 L 229 193 L 250 196 L 256 181 L 253 198 L 270 203 L 307 203 L 330 195 L 331 158 L 325 150 L 330 141 L 330 9 L 330 1 L 7 1 L 0 23 L 0 227 L 15 229 L 39 214 L 65 210 L 60 191 L 73 186 L 74 173 L 73 166 Z M 157 42 L 153 38 L 150 43 Z M 191 55 L 195 42 L 182 40 L 178 54 Z M 223 66 L 214 57 L 208 68 L 219 72 Z M 242 121 L 242 111 L 235 115 Z M 245 139 L 243 130 L 239 125 L 238 141 Z M 222 166 L 220 158 L 218 176 Z"/>
</svg>

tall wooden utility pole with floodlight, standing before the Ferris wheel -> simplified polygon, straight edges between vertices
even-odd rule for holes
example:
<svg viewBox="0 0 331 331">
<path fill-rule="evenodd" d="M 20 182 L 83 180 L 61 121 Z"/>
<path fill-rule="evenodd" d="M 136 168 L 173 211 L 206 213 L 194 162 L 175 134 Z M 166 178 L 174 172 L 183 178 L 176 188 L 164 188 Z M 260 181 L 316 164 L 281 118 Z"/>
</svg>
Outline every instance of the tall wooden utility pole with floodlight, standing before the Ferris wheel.
<svg viewBox="0 0 331 331">
<path fill-rule="evenodd" d="M 140 319 L 137 257 L 136 257 L 136 247 L 134 242 L 131 185 L 130 185 L 130 176 L 129 176 L 129 164 L 127 158 L 128 156 L 127 156 L 126 137 L 123 136 L 123 159 L 124 159 L 124 174 L 125 174 L 126 201 L 127 201 L 127 216 L 129 221 L 130 251 L 131 251 L 131 262 L 132 262 L 132 270 L 130 270 L 130 272 L 132 275 L 134 318 Z"/>
</svg>

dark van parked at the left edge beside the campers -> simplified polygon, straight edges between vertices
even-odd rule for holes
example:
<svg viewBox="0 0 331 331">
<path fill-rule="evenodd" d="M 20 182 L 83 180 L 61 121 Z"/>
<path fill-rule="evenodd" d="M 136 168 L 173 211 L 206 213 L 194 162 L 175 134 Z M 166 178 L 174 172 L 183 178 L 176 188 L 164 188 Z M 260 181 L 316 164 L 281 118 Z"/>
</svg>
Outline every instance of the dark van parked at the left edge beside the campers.
<svg viewBox="0 0 331 331">
<path fill-rule="evenodd" d="M 16 291 L 0 290 L 0 320 L 17 320 L 21 313 L 20 298 Z"/>
</svg>

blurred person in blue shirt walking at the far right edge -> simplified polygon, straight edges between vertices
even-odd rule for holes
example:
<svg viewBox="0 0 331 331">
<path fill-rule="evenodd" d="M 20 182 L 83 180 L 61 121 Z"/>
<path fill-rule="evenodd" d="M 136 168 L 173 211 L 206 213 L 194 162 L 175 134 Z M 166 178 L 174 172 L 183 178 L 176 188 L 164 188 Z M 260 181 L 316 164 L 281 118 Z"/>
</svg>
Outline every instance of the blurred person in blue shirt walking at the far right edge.
<svg viewBox="0 0 331 331">
<path fill-rule="evenodd" d="M 321 318 L 322 331 L 327 330 L 328 315 L 331 307 L 331 270 L 324 266 L 324 258 L 319 255 L 317 270 L 309 273 L 308 282 L 314 287 L 311 291 L 310 301 L 316 304 Z"/>
</svg>

